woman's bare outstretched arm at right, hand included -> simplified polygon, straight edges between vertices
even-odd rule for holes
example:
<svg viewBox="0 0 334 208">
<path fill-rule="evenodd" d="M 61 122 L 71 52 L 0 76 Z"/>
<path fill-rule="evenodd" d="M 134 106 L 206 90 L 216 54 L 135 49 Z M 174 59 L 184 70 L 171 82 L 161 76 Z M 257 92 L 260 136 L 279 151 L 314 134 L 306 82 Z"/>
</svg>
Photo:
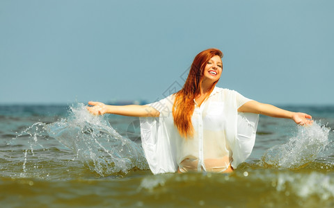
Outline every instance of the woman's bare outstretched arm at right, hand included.
<svg viewBox="0 0 334 208">
<path fill-rule="evenodd" d="M 239 107 L 238 112 L 250 112 L 255 114 L 263 114 L 266 116 L 292 119 L 299 125 L 310 125 L 312 124 L 312 116 L 302 112 L 290 112 L 287 110 L 280 109 L 279 107 L 259 103 L 257 101 L 248 101 L 244 105 Z"/>
</svg>

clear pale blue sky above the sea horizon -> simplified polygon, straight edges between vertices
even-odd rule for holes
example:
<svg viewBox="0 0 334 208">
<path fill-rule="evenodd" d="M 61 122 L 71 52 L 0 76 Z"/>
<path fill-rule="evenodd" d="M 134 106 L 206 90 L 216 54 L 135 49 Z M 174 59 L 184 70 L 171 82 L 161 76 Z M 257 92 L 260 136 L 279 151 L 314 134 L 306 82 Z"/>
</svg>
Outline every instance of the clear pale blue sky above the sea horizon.
<svg viewBox="0 0 334 208">
<path fill-rule="evenodd" d="M 0 103 L 155 101 L 214 47 L 218 87 L 334 104 L 333 11 L 331 0 L 0 0 Z"/>
</svg>

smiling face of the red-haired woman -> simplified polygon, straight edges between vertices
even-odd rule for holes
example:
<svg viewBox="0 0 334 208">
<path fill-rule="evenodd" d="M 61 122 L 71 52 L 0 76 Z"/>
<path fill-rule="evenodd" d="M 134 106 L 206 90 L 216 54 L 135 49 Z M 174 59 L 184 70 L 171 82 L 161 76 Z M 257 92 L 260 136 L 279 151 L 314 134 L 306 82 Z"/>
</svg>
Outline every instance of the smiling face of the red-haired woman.
<svg viewBox="0 0 334 208">
<path fill-rule="evenodd" d="M 210 58 L 207 62 L 207 65 L 204 69 L 204 80 L 211 80 L 212 83 L 216 82 L 219 78 L 221 78 L 221 72 L 223 71 L 223 63 L 221 62 L 221 58 L 219 55 L 215 55 Z"/>
</svg>

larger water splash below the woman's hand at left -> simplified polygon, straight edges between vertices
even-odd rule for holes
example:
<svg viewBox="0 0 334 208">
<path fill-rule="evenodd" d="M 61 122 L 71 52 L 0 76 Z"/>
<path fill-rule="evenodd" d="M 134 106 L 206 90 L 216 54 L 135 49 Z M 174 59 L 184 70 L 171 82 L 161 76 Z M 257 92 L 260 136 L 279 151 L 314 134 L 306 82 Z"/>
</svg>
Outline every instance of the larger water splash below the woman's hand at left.
<svg viewBox="0 0 334 208">
<path fill-rule="evenodd" d="M 102 176 L 148 169 L 141 145 L 122 137 L 106 116 L 93 116 L 82 103 L 70 107 L 67 118 L 45 125 L 45 129 L 50 137 L 71 148 L 90 171 Z"/>
</svg>

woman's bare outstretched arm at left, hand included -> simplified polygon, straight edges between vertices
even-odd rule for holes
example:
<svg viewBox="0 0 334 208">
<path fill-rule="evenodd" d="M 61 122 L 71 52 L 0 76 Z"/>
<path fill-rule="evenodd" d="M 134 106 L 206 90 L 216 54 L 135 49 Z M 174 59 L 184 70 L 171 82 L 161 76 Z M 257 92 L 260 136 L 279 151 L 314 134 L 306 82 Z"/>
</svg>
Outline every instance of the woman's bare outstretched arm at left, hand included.
<svg viewBox="0 0 334 208">
<path fill-rule="evenodd" d="M 118 114 L 122 116 L 159 117 L 160 112 L 149 105 L 105 105 L 100 102 L 89 101 L 87 110 L 94 115 Z"/>
</svg>

